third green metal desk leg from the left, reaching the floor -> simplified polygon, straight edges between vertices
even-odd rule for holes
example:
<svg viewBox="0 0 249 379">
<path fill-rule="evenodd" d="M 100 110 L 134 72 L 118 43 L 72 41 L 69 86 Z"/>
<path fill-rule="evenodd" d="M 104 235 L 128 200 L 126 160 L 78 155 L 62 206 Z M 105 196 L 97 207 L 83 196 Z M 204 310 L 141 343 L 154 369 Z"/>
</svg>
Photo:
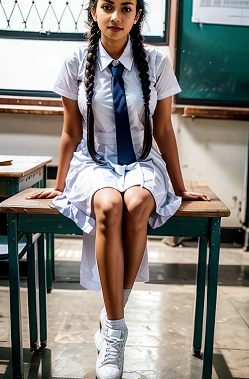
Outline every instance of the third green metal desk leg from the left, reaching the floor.
<svg viewBox="0 0 249 379">
<path fill-rule="evenodd" d="M 41 348 L 47 345 L 47 303 L 46 303 L 46 268 L 44 254 L 44 234 L 37 240 L 39 271 L 39 312 Z"/>
</svg>

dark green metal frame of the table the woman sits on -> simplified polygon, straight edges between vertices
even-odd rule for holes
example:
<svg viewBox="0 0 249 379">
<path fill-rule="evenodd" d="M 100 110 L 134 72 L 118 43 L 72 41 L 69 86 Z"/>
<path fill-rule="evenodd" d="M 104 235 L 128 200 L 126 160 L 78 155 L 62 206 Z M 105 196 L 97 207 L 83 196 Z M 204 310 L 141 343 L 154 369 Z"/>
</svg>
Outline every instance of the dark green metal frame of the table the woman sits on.
<svg viewBox="0 0 249 379">
<path fill-rule="evenodd" d="M 193 336 L 193 355 L 202 358 L 202 329 L 205 297 L 205 273 L 207 244 L 209 244 L 209 263 L 207 278 L 207 314 L 206 332 L 203 355 L 202 379 L 211 379 L 213 361 L 213 341 L 215 328 L 215 313 L 217 300 L 217 283 L 220 251 L 220 217 L 171 217 L 164 225 L 152 229 L 148 225 L 148 235 L 157 236 L 197 236 L 199 237 L 195 322 Z M 36 309 L 30 308 L 30 344 L 31 348 L 47 344 L 47 309 L 46 309 L 46 272 L 44 257 L 44 233 L 46 235 L 81 234 L 75 223 L 62 216 L 51 214 L 24 214 L 8 213 L 8 247 L 10 271 L 10 310 L 11 310 L 11 343 L 13 378 L 23 379 L 23 344 L 22 344 L 22 317 L 20 303 L 20 278 L 18 267 L 18 232 L 33 235 L 39 233 L 36 241 L 30 240 L 28 251 L 29 267 L 34 267 L 34 244 L 38 246 L 38 272 L 39 272 L 39 308 L 40 308 L 40 336 L 37 335 Z M 35 270 L 33 271 L 35 274 Z M 32 284 L 33 283 L 33 284 Z M 28 278 L 29 304 L 35 302 L 34 278 Z"/>
</svg>

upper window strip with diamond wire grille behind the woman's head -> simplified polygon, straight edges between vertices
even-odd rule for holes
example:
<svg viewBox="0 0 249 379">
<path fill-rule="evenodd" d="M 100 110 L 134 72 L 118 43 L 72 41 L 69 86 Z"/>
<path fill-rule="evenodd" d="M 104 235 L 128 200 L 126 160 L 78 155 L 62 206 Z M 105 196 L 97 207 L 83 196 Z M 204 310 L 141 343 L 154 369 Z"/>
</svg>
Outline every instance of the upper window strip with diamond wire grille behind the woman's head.
<svg viewBox="0 0 249 379">
<path fill-rule="evenodd" d="M 169 0 L 148 0 L 145 43 L 167 43 Z M 0 0 L 0 38 L 85 40 L 85 0 Z"/>
</svg>

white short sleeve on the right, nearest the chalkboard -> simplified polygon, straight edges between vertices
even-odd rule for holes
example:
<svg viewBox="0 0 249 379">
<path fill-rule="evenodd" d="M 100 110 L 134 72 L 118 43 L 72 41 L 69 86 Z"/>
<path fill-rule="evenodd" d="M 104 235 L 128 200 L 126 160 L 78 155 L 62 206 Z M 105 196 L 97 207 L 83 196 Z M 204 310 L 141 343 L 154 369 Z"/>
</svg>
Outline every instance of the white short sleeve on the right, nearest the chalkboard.
<svg viewBox="0 0 249 379">
<path fill-rule="evenodd" d="M 167 55 L 157 50 L 156 55 L 156 85 L 157 100 L 175 95 L 181 92 L 174 70 Z"/>
</svg>

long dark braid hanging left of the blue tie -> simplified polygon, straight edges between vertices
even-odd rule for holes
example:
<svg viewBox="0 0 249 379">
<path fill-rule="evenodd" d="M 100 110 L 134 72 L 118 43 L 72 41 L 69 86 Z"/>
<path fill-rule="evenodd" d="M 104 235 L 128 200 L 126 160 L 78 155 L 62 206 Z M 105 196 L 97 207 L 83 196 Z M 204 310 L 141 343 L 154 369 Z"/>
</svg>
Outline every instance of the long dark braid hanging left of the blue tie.
<svg viewBox="0 0 249 379">
<path fill-rule="evenodd" d="M 98 42 L 101 36 L 101 31 L 97 23 L 91 25 L 91 28 L 87 34 L 87 40 L 89 42 L 87 48 L 87 59 L 85 65 L 85 89 L 87 97 L 87 147 L 92 159 L 100 164 L 104 165 L 106 162 L 103 162 L 97 158 L 99 155 L 95 149 L 94 142 L 94 116 L 92 111 L 92 97 L 93 97 L 93 88 L 94 88 L 94 77 L 95 77 L 95 65 L 98 52 Z"/>
</svg>

